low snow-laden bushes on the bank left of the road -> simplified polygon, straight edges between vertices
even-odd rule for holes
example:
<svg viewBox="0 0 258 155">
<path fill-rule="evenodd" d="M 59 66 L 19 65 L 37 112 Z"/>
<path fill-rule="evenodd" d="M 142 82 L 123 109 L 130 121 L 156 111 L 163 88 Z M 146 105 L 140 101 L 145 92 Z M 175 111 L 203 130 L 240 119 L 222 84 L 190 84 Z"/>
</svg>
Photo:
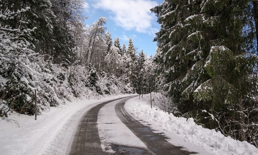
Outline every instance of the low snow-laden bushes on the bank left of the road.
<svg viewBox="0 0 258 155">
<path fill-rule="evenodd" d="M 20 60 L 23 57 L 16 58 L 13 61 L 18 63 L 12 67 L 12 64 L 4 65 L 3 59 L 8 56 L 1 54 L 0 59 L 0 116 L 10 110 L 33 114 L 34 89 L 37 90 L 38 113 L 74 97 L 91 99 L 102 95 L 133 93 L 130 85 L 123 80 L 105 72 L 99 73 L 92 67 L 78 65 L 67 69 L 44 61 L 41 56 L 26 58 L 26 61 Z"/>
</svg>

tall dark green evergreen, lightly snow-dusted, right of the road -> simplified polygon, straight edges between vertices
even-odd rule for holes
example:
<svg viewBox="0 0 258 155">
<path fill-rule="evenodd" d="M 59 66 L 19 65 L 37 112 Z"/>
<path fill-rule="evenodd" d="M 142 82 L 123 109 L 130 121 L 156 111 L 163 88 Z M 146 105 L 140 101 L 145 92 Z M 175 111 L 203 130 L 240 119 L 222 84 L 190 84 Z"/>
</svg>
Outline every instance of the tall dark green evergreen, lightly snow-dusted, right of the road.
<svg viewBox="0 0 258 155">
<path fill-rule="evenodd" d="M 253 71 L 258 59 L 246 48 L 254 35 L 253 31 L 243 35 L 250 23 L 247 6 L 248 1 L 165 0 L 151 9 L 161 24 L 154 39 L 161 49 L 155 56 L 160 88 L 168 91 L 182 113 L 198 109 L 223 112 L 221 122 L 211 119 L 206 127 L 217 127 L 240 140 L 247 140 L 243 124 L 249 118 L 244 118 L 244 112 L 235 115 L 229 109 L 243 111 L 250 106 L 244 103 L 257 104 Z M 200 119 L 198 113 L 202 112 L 192 117 Z M 225 125 L 232 117 L 242 122 L 231 122 L 236 125 L 234 129 Z M 199 123 L 206 121 L 202 118 Z M 232 130 L 237 130 L 238 136 Z"/>
</svg>

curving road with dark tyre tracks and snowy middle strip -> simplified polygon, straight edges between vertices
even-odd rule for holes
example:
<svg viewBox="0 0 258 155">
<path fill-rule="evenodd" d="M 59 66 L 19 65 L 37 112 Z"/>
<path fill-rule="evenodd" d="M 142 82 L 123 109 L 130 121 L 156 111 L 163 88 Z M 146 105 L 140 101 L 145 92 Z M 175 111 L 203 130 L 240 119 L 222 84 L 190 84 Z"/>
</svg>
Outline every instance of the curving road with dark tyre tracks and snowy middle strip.
<svg viewBox="0 0 258 155">
<path fill-rule="evenodd" d="M 88 110 L 76 129 L 69 154 L 193 154 L 135 120 L 124 109 L 131 98 L 105 101 Z"/>
</svg>

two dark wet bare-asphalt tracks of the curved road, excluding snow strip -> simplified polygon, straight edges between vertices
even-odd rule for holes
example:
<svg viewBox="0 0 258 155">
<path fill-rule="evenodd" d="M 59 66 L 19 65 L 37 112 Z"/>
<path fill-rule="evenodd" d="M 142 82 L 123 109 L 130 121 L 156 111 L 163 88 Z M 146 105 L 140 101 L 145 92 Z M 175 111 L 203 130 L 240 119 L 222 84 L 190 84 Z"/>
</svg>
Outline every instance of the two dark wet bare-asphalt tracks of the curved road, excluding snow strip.
<svg viewBox="0 0 258 155">
<path fill-rule="evenodd" d="M 166 137 L 135 120 L 125 109 L 124 104 L 132 97 L 122 97 L 115 100 L 102 102 L 88 110 L 76 129 L 69 155 L 107 155 L 107 154 L 139 154 L 139 155 L 190 155 L 194 152 L 182 150 L 182 147 L 174 146 Z M 116 153 L 104 152 L 101 148 L 100 136 L 97 126 L 98 113 L 100 109 L 110 103 L 117 102 L 115 112 L 117 117 L 147 146 L 147 149 L 135 148 L 132 146 L 113 146 Z M 119 130 L 119 129 L 118 129 Z M 123 138 L 123 137 L 121 137 Z M 117 149 L 116 149 L 117 148 Z M 121 151 L 123 149 L 123 151 Z M 141 151 L 137 151 L 141 150 Z"/>
</svg>

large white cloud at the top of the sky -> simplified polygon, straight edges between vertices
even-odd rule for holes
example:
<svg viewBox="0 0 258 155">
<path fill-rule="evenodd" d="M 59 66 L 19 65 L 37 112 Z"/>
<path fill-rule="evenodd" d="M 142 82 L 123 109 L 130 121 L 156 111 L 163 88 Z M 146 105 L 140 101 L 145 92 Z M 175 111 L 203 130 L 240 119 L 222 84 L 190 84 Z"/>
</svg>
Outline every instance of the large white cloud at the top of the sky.
<svg viewBox="0 0 258 155">
<path fill-rule="evenodd" d="M 151 0 L 94 0 L 95 8 L 108 10 L 118 26 L 126 30 L 136 30 L 150 34 L 154 14 L 150 9 L 158 3 Z"/>
</svg>

